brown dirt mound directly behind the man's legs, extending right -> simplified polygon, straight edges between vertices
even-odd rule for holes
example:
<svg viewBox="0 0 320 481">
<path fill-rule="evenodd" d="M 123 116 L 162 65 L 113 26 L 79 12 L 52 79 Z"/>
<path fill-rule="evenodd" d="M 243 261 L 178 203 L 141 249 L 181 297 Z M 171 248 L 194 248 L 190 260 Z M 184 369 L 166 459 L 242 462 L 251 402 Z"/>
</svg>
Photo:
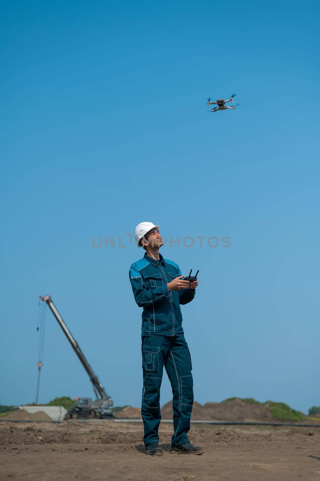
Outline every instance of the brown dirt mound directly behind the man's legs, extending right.
<svg viewBox="0 0 320 481">
<path fill-rule="evenodd" d="M 161 407 L 162 419 L 172 419 L 172 401 Z M 201 405 L 194 402 L 191 419 L 195 421 L 273 421 L 272 414 L 266 406 L 246 404 L 241 399 L 232 399 L 222 403 L 206 403 Z"/>
</svg>

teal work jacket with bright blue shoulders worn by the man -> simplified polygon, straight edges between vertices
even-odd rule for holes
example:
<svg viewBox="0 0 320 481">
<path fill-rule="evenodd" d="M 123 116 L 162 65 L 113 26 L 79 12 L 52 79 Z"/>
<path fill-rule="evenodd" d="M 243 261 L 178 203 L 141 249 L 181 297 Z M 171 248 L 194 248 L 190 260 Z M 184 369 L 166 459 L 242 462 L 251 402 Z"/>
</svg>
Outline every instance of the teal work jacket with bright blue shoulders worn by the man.
<svg viewBox="0 0 320 481">
<path fill-rule="evenodd" d="M 181 276 L 175 262 L 164 259 L 157 261 L 147 254 L 131 265 L 129 278 L 135 302 L 142 311 L 143 336 L 183 335 L 180 304 L 187 304 L 195 297 L 195 289 L 168 291 L 167 284 Z"/>
</svg>

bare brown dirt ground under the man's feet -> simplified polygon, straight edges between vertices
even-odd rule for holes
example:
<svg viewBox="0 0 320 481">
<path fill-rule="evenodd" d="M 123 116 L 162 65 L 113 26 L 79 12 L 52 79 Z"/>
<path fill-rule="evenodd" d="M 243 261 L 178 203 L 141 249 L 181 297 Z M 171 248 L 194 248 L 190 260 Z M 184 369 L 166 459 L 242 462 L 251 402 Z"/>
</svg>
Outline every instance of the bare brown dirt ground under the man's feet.
<svg viewBox="0 0 320 481">
<path fill-rule="evenodd" d="M 172 424 L 160 426 L 162 457 L 143 453 L 141 423 L 0 423 L 5 481 L 316 481 L 320 429 L 192 425 L 204 455 L 168 453 Z"/>
</svg>

